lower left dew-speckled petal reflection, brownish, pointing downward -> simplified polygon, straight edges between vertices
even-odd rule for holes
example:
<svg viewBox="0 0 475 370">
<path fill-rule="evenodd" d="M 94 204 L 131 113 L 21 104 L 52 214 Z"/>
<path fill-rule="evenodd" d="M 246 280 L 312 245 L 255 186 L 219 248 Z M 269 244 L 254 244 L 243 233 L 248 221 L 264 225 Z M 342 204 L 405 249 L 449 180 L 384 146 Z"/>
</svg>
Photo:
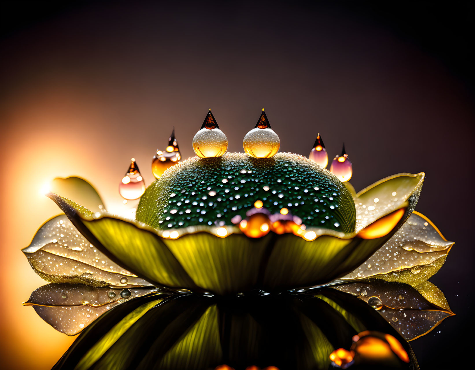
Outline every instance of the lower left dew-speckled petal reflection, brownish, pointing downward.
<svg viewBox="0 0 475 370">
<path fill-rule="evenodd" d="M 156 288 L 93 288 L 85 284 L 52 283 L 31 293 L 24 305 L 32 305 L 38 315 L 57 331 L 75 335 L 104 312 L 133 298 L 158 294 Z"/>
</svg>

